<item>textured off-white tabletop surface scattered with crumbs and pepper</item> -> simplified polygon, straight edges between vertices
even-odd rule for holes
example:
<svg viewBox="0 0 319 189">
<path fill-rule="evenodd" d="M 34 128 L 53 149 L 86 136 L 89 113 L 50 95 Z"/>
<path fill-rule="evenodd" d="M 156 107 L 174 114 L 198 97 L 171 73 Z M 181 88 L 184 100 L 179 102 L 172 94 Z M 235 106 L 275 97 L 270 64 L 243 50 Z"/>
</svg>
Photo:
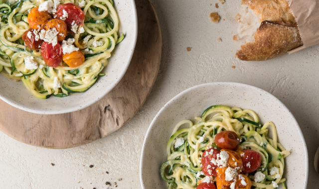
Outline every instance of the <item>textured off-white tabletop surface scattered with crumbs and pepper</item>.
<svg viewBox="0 0 319 189">
<path fill-rule="evenodd" d="M 218 9 L 217 2 L 153 0 L 163 37 L 162 61 L 158 80 L 139 113 L 110 136 L 66 150 L 28 146 L 0 133 L 0 188 L 106 189 L 106 181 L 122 178 L 117 189 L 139 189 L 142 143 L 160 108 L 189 87 L 227 81 L 266 90 L 292 111 L 308 146 L 308 189 L 318 189 L 319 175 L 313 165 L 319 147 L 319 46 L 265 62 L 236 60 L 240 44 L 233 42 L 232 32 L 237 29 L 234 16 L 239 0 L 219 3 Z M 214 11 L 221 16 L 217 24 L 208 17 Z M 216 41 L 219 37 L 222 42 Z M 91 164 L 96 168 L 90 169 Z"/>
</svg>

